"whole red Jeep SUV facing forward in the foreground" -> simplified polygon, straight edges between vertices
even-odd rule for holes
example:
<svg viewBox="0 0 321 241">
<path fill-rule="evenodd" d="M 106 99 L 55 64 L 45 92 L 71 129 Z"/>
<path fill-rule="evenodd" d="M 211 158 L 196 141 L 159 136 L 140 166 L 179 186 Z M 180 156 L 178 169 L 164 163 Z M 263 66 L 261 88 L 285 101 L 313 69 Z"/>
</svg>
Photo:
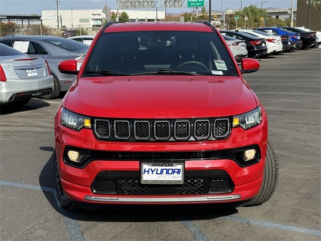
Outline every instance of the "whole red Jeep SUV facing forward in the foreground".
<svg viewBox="0 0 321 241">
<path fill-rule="evenodd" d="M 77 204 L 258 205 L 278 164 L 264 108 L 221 34 L 197 23 L 108 22 L 55 115 L 55 175 Z"/>
</svg>

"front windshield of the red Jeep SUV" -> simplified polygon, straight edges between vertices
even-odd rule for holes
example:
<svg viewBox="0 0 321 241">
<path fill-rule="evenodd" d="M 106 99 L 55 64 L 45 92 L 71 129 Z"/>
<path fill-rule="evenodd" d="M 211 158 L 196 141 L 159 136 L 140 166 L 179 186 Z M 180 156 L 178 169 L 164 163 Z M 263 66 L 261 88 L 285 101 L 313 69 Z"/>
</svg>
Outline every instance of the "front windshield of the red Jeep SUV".
<svg viewBox="0 0 321 241">
<path fill-rule="evenodd" d="M 102 34 L 83 72 L 87 77 L 140 74 L 237 76 L 237 71 L 216 33 L 133 31 Z"/>
</svg>

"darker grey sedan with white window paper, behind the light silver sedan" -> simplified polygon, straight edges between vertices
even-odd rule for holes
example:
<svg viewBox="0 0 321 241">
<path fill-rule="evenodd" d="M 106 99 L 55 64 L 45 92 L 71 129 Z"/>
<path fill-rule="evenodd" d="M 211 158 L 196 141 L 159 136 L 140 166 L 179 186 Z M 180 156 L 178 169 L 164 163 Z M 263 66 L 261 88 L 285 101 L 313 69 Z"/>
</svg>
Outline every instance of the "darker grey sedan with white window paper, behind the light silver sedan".
<svg viewBox="0 0 321 241">
<path fill-rule="evenodd" d="M 67 91 L 74 80 L 75 75 L 63 74 L 58 70 L 61 60 L 74 58 L 81 64 L 83 59 L 78 58 L 88 50 L 88 45 L 71 39 L 54 36 L 27 36 L 15 35 L 0 38 L 0 43 L 13 47 L 31 57 L 46 59 L 54 76 L 54 91 L 52 94 L 43 96 L 51 99 L 59 95 L 60 91 Z"/>
</svg>

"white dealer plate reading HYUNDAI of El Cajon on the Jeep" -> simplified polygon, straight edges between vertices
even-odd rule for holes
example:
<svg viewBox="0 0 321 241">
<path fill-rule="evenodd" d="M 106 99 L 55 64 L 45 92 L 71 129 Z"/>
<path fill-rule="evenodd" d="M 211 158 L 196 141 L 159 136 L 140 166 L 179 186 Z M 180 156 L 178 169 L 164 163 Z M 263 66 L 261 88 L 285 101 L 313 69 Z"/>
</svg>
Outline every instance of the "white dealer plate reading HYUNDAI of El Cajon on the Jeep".
<svg viewBox="0 0 321 241">
<path fill-rule="evenodd" d="M 183 184 L 184 163 L 141 163 L 141 184 Z"/>
</svg>

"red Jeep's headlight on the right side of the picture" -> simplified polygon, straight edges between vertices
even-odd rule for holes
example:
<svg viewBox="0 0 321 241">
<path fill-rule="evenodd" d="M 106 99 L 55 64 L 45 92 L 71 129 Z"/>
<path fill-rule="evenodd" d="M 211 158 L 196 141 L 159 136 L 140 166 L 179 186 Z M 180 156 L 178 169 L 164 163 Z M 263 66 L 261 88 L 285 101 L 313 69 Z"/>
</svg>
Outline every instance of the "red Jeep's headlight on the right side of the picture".
<svg viewBox="0 0 321 241">
<path fill-rule="evenodd" d="M 244 130 L 259 125 L 261 122 L 262 110 L 260 106 L 250 112 L 233 116 L 233 127 L 242 127 Z"/>
</svg>

